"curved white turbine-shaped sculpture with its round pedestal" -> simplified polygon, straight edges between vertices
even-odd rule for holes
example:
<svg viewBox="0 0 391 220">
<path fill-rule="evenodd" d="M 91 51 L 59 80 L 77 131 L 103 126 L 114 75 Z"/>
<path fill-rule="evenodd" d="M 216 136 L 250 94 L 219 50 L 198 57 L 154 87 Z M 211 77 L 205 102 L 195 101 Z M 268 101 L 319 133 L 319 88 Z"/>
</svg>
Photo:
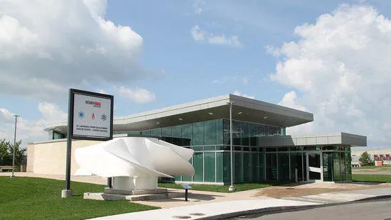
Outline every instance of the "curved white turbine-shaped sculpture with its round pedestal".
<svg viewBox="0 0 391 220">
<path fill-rule="evenodd" d="M 113 188 L 156 189 L 157 177 L 194 175 L 193 150 L 157 138 L 114 138 L 75 150 L 75 175 L 113 177 Z"/>
</svg>

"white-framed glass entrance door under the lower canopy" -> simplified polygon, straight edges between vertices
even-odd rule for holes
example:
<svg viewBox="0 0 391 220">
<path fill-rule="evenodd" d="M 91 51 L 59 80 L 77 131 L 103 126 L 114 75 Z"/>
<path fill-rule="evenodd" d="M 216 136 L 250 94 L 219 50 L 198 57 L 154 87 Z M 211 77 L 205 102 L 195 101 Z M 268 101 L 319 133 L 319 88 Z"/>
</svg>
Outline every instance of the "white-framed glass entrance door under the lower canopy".
<svg viewBox="0 0 391 220">
<path fill-rule="evenodd" d="M 323 181 L 323 163 L 320 151 L 306 153 L 307 181 Z"/>
</svg>

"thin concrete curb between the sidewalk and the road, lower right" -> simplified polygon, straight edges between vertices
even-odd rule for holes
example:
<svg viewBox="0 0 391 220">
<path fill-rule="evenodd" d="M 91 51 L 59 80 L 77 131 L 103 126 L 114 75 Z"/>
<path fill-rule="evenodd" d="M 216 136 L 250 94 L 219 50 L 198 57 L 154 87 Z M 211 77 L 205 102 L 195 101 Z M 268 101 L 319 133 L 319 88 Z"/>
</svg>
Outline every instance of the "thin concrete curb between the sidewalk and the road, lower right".
<svg viewBox="0 0 391 220">
<path fill-rule="evenodd" d="M 354 202 L 367 202 L 374 199 L 389 199 L 391 198 L 390 195 L 381 195 L 381 196 L 373 196 L 368 197 L 365 199 L 357 199 L 352 200 L 350 202 L 336 202 L 331 204 L 314 204 L 314 205 L 304 205 L 304 206 L 289 206 L 289 207 L 268 207 L 268 208 L 261 208 L 261 209 L 251 209 L 251 210 L 245 210 L 245 211 L 235 211 L 225 214 L 218 214 L 215 216 L 205 216 L 198 219 L 202 220 L 218 220 L 218 219 L 229 219 L 229 218 L 235 218 L 237 216 L 245 216 L 245 215 L 251 215 L 251 214 L 274 214 L 279 212 L 285 212 L 285 211 L 301 211 L 306 209 L 314 209 L 314 208 L 320 208 L 320 207 L 329 207 L 329 206 L 335 206 L 335 205 L 341 205 L 341 204 L 350 204 Z"/>
</svg>

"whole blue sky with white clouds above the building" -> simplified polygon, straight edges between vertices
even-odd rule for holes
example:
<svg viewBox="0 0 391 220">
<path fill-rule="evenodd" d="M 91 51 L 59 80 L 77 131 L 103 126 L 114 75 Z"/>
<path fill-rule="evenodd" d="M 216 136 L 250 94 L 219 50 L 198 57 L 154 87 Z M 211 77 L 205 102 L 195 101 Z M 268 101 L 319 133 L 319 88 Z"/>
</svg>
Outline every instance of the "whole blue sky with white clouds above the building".
<svg viewBox="0 0 391 220">
<path fill-rule="evenodd" d="M 20 114 L 18 136 L 44 139 L 73 87 L 113 94 L 117 116 L 235 93 L 314 113 L 291 133 L 388 146 L 389 1 L 38 3 L 0 7 L 0 138 Z"/>
</svg>

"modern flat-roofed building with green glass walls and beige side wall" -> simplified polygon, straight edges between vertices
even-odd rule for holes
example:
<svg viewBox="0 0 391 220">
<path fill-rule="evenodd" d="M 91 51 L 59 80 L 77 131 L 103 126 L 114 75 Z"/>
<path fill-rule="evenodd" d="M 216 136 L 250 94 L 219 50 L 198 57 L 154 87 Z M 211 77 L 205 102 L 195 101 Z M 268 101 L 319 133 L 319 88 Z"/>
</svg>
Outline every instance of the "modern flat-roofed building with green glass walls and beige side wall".
<svg viewBox="0 0 391 220">
<path fill-rule="evenodd" d="M 230 102 L 232 102 L 233 181 L 349 181 L 353 146 L 365 136 L 349 133 L 286 136 L 286 128 L 314 121 L 305 111 L 232 94 L 114 117 L 116 136 L 158 137 L 195 151 L 193 177 L 176 182 L 224 185 L 230 175 Z M 48 141 L 28 144 L 28 171 L 65 172 L 66 122 L 45 126 Z M 73 148 L 96 143 L 74 141 Z M 77 166 L 73 163 L 73 169 Z"/>
</svg>

